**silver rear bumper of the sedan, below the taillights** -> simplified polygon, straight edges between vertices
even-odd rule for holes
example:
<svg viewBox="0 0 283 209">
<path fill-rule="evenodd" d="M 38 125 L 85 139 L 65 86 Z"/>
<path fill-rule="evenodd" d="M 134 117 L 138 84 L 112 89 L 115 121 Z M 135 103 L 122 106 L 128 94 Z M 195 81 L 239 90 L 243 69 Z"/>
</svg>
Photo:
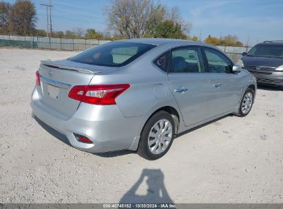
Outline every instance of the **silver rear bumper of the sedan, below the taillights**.
<svg viewBox="0 0 283 209">
<path fill-rule="evenodd" d="M 116 105 L 81 103 L 71 118 L 56 112 L 39 100 L 36 88 L 32 94 L 32 113 L 52 129 L 67 137 L 72 146 L 90 153 L 136 150 L 145 117 L 126 118 Z M 84 135 L 94 144 L 78 142 L 74 133 Z"/>
</svg>

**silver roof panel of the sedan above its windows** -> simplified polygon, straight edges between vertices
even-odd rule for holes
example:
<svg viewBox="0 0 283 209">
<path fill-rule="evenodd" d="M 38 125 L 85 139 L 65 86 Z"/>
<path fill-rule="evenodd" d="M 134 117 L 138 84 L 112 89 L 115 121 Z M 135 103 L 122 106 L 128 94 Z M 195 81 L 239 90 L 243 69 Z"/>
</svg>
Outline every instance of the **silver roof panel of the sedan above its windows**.
<svg viewBox="0 0 283 209">
<path fill-rule="evenodd" d="M 182 39 L 122 39 L 119 40 L 122 42 L 131 42 L 131 43 L 147 43 L 151 45 L 163 45 L 165 43 L 178 43 L 178 44 L 183 44 L 183 45 L 206 45 L 205 43 L 202 43 L 200 41 L 187 41 L 187 40 L 182 40 Z"/>
</svg>

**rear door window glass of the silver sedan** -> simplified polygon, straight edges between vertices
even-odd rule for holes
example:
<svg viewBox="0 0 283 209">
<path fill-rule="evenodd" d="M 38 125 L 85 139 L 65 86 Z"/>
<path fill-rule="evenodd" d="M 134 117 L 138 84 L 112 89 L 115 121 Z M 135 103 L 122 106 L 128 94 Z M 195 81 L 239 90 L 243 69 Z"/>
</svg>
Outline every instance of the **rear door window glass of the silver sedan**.
<svg viewBox="0 0 283 209">
<path fill-rule="evenodd" d="M 182 47 L 171 52 L 171 73 L 202 73 L 202 57 L 198 47 Z"/>
</svg>

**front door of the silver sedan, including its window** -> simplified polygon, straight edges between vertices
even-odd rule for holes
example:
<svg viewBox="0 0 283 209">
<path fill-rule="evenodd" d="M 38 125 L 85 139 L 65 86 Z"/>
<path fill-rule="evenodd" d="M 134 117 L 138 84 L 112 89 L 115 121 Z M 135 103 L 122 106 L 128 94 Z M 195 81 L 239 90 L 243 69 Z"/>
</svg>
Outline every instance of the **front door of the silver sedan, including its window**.
<svg viewBox="0 0 283 209">
<path fill-rule="evenodd" d="M 209 118 L 235 109 L 240 100 L 242 85 L 238 73 L 232 73 L 233 63 L 221 52 L 203 47 L 205 66 L 212 85 L 211 98 L 207 107 Z"/>
</svg>

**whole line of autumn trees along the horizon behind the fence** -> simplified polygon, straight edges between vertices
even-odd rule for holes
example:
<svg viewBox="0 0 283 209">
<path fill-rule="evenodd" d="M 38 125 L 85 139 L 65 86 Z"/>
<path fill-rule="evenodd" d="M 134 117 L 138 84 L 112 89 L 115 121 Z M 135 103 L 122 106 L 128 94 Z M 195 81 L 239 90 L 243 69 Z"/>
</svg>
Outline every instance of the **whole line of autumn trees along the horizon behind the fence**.
<svg viewBox="0 0 283 209">
<path fill-rule="evenodd" d="M 54 31 L 36 29 L 36 10 L 30 0 L 17 0 L 14 4 L 0 2 L 0 34 L 21 36 L 51 36 L 65 39 L 132 39 L 170 38 L 198 41 L 190 36 L 192 23 L 183 19 L 178 7 L 167 8 L 155 0 L 113 0 L 103 11 L 107 20 L 105 32 L 94 28 Z M 237 36 L 217 38 L 208 36 L 205 43 L 241 46 Z"/>
</svg>

